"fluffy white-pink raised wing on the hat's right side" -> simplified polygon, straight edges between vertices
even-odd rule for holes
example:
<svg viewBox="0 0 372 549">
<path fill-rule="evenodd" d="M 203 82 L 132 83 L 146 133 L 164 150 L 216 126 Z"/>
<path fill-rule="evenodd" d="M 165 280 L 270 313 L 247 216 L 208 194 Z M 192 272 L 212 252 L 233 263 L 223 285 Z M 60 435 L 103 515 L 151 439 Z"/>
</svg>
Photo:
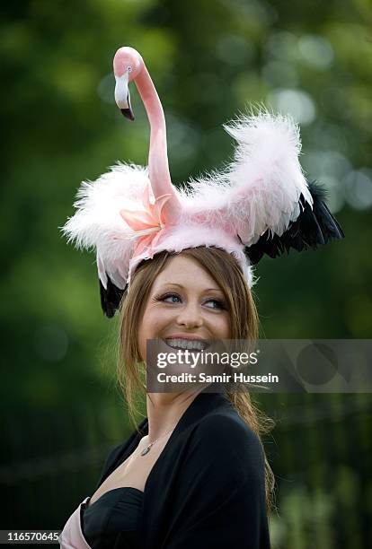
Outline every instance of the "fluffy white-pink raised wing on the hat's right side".
<svg viewBox="0 0 372 549">
<path fill-rule="evenodd" d="M 224 127 L 237 143 L 234 161 L 225 170 L 190 180 L 183 192 L 187 217 L 235 231 L 248 246 L 268 229 L 280 236 L 297 219 L 301 195 L 313 205 L 298 161 L 297 125 L 262 111 Z"/>
</svg>

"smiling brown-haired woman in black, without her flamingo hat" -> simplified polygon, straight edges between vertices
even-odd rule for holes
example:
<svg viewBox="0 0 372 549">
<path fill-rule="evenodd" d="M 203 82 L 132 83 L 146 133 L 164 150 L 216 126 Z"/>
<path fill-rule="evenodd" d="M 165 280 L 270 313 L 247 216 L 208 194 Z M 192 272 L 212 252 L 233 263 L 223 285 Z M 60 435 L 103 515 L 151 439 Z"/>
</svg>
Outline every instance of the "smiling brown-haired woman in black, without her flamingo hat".
<svg viewBox="0 0 372 549">
<path fill-rule="evenodd" d="M 120 326 L 131 405 L 147 339 L 254 338 L 257 314 L 234 257 L 190 248 L 163 252 L 137 268 Z M 265 475 L 260 442 L 265 424 L 249 395 L 196 388 L 148 394 L 146 404 L 147 419 L 113 450 L 98 489 L 81 506 L 87 544 L 270 547 L 265 484 L 270 503 L 273 479 L 268 465 Z"/>
</svg>

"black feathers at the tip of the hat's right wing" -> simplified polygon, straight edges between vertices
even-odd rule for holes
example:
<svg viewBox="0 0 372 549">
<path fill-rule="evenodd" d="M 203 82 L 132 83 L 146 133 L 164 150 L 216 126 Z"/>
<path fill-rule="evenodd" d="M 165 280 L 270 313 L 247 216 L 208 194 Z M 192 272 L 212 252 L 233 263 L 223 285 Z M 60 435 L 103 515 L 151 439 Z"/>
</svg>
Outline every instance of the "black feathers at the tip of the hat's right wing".
<svg viewBox="0 0 372 549">
<path fill-rule="evenodd" d="M 255 244 L 244 248 L 252 265 L 258 263 L 264 254 L 278 257 L 286 251 L 288 253 L 290 248 L 297 251 L 315 249 L 329 240 L 345 237 L 341 226 L 323 202 L 326 195 L 324 188 L 315 181 L 309 183 L 308 187 L 313 197 L 313 207 L 301 196 L 303 211 L 295 222 L 289 223 L 287 231 L 281 236 L 271 235 L 270 230 L 265 231 Z"/>
</svg>

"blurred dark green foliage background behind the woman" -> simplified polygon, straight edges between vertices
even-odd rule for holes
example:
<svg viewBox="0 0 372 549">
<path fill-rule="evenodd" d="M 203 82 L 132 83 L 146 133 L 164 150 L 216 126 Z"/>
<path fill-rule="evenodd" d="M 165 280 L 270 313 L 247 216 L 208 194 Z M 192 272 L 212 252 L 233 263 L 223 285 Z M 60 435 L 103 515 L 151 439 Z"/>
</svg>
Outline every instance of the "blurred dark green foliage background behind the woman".
<svg viewBox="0 0 372 549">
<path fill-rule="evenodd" d="M 137 48 L 153 77 L 174 183 L 231 158 L 222 124 L 252 102 L 292 112 L 304 169 L 329 189 L 346 240 L 261 261 L 262 335 L 371 336 L 371 8 L 369 0 L 4 4 L 2 528 L 62 527 L 130 429 L 115 388 L 117 320 L 102 316 L 93 255 L 58 231 L 81 180 L 119 159 L 146 164 L 149 128 L 135 86 L 133 124 L 113 103 L 116 48 Z M 262 405 L 279 419 L 268 441 L 279 484 L 274 547 L 367 546 L 369 395 L 283 395 Z"/>
</svg>

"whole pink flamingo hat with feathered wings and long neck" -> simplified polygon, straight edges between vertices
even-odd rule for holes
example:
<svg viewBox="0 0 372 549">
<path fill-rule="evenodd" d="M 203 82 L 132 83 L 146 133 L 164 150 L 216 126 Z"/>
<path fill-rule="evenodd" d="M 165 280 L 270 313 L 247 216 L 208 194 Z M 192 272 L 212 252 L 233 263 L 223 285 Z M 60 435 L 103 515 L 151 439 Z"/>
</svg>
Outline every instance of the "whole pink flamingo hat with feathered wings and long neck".
<svg viewBox="0 0 372 549">
<path fill-rule="evenodd" d="M 84 181 L 77 211 L 61 227 L 76 248 L 95 249 L 106 316 L 119 308 L 138 264 L 163 250 L 222 248 L 235 256 L 252 287 L 252 266 L 264 254 L 277 257 L 344 237 L 323 202 L 323 187 L 304 177 L 299 130 L 291 118 L 264 110 L 224 125 L 237 143 L 234 161 L 176 188 L 164 110 L 144 60 L 136 49 L 120 48 L 113 68 L 124 117 L 134 120 L 129 82 L 144 101 L 151 127 L 148 167 L 118 162 L 96 181 Z"/>
</svg>

